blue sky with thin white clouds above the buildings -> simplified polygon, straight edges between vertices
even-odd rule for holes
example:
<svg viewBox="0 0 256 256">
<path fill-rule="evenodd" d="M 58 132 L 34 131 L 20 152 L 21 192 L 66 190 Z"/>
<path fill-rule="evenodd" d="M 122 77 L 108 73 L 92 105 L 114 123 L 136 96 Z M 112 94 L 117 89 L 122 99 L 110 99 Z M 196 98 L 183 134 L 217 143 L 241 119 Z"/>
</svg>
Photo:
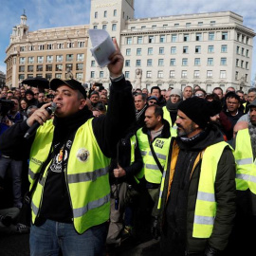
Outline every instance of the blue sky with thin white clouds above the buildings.
<svg viewBox="0 0 256 256">
<path fill-rule="evenodd" d="M 108 0 L 108 2 L 114 0 Z M 119 1 L 119 0 L 115 0 Z M 105 2 L 102 0 L 102 2 Z M 6 72 L 6 48 L 12 27 L 26 9 L 29 30 L 89 24 L 90 0 L 1 0 L 0 70 Z M 231 10 L 244 17 L 244 25 L 256 31 L 256 5 L 252 0 L 135 0 L 135 17 L 155 17 Z M 252 79 L 256 73 L 254 39 Z"/>
</svg>

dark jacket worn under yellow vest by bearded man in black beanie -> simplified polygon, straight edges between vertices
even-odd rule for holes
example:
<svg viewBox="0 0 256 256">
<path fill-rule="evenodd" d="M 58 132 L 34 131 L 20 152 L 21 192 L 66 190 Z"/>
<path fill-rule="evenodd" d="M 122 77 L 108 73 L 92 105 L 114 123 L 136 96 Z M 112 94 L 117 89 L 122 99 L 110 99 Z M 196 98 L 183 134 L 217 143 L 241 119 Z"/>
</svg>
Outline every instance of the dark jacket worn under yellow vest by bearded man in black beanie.
<svg viewBox="0 0 256 256">
<path fill-rule="evenodd" d="M 176 138 L 180 149 L 174 171 L 174 180 L 170 196 L 167 199 L 167 188 L 170 178 L 170 163 L 167 168 L 162 206 L 162 245 L 166 255 L 184 255 L 189 253 L 204 253 L 206 247 L 224 250 L 229 241 L 235 216 L 235 162 L 232 152 L 227 147 L 218 163 L 215 179 L 215 197 L 217 211 L 212 234 L 209 239 L 192 237 L 195 202 L 201 170 L 201 162 L 197 164 L 192 176 L 195 157 L 208 146 L 222 141 L 219 130 L 213 126 L 199 141 L 188 145 Z M 172 155 L 174 139 L 170 148 Z M 170 159 L 170 158 L 169 158 Z M 172 163 L 172 158 L 171 158 Z M 165 204 L 166 202 L 166 204 Z M 166 245 L 166 246 L 164 246 Z M 164 254 L 165 255 L 165 254 Z"/>
</svg>

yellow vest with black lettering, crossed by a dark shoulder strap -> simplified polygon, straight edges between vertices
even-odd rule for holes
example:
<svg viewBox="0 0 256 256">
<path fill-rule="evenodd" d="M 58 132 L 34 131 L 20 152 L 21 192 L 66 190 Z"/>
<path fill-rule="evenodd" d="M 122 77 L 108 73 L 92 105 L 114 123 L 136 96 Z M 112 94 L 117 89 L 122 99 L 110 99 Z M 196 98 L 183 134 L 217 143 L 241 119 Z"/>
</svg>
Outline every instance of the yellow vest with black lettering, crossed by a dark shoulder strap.
<svg viewBox="0 0 256 256">
<path fill-rule="evenodd" d="M 140 150 L 143 160 L 143 168 L 141 172 L 137 174 L 137 177 L 142 178 L 143 175 L 145 175 L 145 179 L 148 182 L 160 184 L 162 179 L 162 173 L 159 170 L 157 164 L 155 163 L 154 156 L 151 152 L 148 136 L 142 132 L 142 128 L 137 130 L 137 141 L 138 148 Z M 163 168 L 166 165 L 166 159 L 170 148 L 170 141 L 171 137 L 156 137 L 152 142 L 153 148 L 155 150 L 155 155 L 157 156 Z"/>
</svg>

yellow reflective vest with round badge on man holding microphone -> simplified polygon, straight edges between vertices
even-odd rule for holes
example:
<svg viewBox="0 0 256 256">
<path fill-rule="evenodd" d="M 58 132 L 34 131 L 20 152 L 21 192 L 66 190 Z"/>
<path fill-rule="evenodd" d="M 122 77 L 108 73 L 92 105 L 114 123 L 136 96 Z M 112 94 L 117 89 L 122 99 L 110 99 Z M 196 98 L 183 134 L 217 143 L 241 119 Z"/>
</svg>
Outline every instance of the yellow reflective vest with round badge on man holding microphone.
<svg viewBox="0 0 256 256">
<path fill-rule="evenodd" d="M 49 154 L 53 139 L 52 120 L 46 121 L 36 133 L 30 150 L 30 189 Z M 73 223 L 78 233 L 104 223 L 110 213 L 110 186 L 108 167 L 110 159 L 102 154 L 92 129 L 92 119 L 87 120 L 76 132 L 65 171 L 65 181 L 73 211 Z M 38 216 L 43 199 L 48 167 L 39 180 L 32 196 L 32 223 Z"/>
</svg>

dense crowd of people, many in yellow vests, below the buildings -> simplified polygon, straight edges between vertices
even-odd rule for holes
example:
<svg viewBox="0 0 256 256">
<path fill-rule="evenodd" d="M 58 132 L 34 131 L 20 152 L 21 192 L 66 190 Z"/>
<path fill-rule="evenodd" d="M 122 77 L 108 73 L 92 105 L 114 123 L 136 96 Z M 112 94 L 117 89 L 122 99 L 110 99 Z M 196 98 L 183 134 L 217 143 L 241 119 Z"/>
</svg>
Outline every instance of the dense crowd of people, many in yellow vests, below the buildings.
<svg viewBox="0 0 256 256">
<path fill-rule="evenodd" d="M 31 255 L 115 255 L 127 239 L 157 240 L 155 255 L 251 255 L 256 89 L 133 89 L 115 46 L 109 92 L 1 89 L 0 232 L 30 231 Z M 34 185 L 29 229 L 18 215 Z"/>
</svg>

